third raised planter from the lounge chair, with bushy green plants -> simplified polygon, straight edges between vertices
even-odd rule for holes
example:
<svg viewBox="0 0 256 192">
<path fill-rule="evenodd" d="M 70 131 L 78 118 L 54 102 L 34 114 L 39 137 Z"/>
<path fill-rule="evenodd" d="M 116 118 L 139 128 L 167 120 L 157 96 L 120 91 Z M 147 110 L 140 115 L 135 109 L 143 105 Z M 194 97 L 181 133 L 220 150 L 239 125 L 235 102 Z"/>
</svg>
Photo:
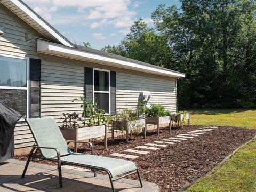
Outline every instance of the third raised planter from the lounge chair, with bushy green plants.
<svg viewBox="0 0 256 192">
<path fill-rule="evenodd" d="M 165 110 L 163 105 L 151 104 L 150 108 L 146 108 L 145 115 L 147 124 L 157 125 L 157 135 L 159 135 L 161 124 L 169 124 L 169 131 L 171 131 L 171 113 Z"/>
</svg>

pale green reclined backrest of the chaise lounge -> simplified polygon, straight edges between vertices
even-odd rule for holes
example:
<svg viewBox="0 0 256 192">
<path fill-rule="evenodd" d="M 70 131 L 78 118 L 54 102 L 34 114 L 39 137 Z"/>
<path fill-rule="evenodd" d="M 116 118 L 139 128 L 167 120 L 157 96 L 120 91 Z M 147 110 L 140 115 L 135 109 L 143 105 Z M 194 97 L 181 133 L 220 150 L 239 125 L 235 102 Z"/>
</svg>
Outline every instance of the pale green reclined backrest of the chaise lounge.
<svg viewBox="0 0 256 192">
<path fill-rule="evenodd" d="M 60 155 L 68 155 L 72 153 L 54 119 L 34 118 L 26 119 L 26 121 L 34 135 L 37 146 L 58 148 Z M 57 153 L 53 149 L 41 149 L 41 152 L 46 158 L 57 157 Z"/>
</svg>

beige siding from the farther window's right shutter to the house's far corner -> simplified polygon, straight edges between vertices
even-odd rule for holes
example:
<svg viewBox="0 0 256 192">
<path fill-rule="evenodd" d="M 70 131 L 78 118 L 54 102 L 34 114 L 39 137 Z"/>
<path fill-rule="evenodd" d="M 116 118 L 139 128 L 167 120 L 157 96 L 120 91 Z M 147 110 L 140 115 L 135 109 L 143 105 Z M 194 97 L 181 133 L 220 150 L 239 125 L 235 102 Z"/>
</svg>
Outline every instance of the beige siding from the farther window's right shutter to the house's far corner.
<svg viewBox="0 0 256 192">
<path fill-rule="evenodd" d="M 149 76 L 136 73 L 116 74 L 116 104 L 117 109 L 135 109 L 138 105 L 140 92 L 149 92 L 152 98 L 147 103 L 162 104 L 166 110 L 176 112 L 175 78 Z"/>
</svg>

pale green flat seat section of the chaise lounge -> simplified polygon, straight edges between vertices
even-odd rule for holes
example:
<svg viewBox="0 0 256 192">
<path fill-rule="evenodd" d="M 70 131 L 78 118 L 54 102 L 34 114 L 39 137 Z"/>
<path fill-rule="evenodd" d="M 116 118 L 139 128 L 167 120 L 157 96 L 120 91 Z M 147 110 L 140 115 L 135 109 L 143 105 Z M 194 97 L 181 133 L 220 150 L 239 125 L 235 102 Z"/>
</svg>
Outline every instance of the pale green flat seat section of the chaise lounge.
<svg viewBox="0 0 256 192">
<path fill-rule="evenodd" d="M 57 160 L 57 157 L 51 159 Z M 112 177 L 116 177 L 117 175 L 121 175 L 137 169 L 137 166 L 131 161 L 81 153 L 74 153 L 61 157 L 60 159 L 61 162 L 66 162 L 67 164 L 76 163 L 107 169 Z"/>
</svg>

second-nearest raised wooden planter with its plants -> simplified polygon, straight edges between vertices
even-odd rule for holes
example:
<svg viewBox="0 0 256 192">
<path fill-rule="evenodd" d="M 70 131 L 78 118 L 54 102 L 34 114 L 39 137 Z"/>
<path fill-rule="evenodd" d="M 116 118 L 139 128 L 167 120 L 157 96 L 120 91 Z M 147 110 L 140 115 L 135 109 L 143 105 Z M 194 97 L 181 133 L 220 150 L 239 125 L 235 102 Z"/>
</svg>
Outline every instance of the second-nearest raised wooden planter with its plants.
<svg viewBox="0 0 256 192">
<path fill-rule="evenodd" d="M 114 130 L 126 131 L 126 143 L 129 142 L 129 131 L 132 137 L 132 133 L 139 134 L 142 129 L 144 132 L 144 138 L 146 138 L 146 120 L 142 117 L 140 108 L 136 110 L 125 108 L 119 111 L 112 122 L 112 140 L 114 140 Z"/>
</svg>

